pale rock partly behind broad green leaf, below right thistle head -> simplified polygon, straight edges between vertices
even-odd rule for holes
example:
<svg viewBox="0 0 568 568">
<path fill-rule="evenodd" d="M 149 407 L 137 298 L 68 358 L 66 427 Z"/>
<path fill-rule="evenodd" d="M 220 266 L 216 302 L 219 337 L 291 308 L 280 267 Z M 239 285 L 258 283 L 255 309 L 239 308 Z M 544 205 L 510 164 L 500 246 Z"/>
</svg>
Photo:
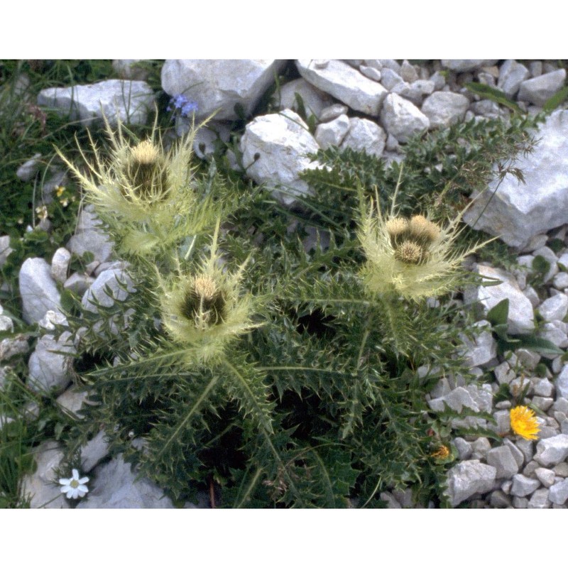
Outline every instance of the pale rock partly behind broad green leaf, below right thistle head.
<svg viewBox="0 0 568 568">
<path fill-rule="evenodd" d="M 535 329 L 535 319 L 532 305 L 512 275 L 498 268 L 477 265 L 476 272 L 484 278 L 501 280 L 496 286 L 479 286 L 466 290 L 464 299 L 466 304 L 480 302 L 484 315 L 501 300 L 508 298 L 508 332 L 510 334 L 524 334 Z"/>
</svg>

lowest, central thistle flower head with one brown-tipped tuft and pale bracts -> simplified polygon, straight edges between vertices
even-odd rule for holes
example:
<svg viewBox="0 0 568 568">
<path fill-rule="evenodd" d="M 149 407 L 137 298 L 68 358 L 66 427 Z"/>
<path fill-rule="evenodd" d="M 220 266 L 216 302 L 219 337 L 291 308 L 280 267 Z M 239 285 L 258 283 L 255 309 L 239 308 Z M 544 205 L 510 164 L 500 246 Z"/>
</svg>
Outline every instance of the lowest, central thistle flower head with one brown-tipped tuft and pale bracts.
<svg viewBox="0 0 568 568">
<path fill-rule="evenodd" d="M 187 347 L 187 362 L 214 361 L 239 335 L 258 327 L 251 320 L 256 302 L 241 293 L 246 261 L 234 273 L 224 271 L 217 252 L 219 224 L 209 258 L 195 273 L 178 270 L 174 278 L 160 281 L 163 324 L 170 337 Z"/>
</svg>

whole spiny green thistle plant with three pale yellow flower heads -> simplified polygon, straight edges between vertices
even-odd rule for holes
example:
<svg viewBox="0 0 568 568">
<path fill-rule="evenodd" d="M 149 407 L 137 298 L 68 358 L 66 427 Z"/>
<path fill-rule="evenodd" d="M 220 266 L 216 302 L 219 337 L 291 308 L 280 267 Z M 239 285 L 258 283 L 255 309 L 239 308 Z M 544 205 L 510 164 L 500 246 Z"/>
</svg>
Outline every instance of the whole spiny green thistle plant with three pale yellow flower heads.
<svg viewBox="0 0 568 568">
<path fill-rule="evenodd" d="M 89 393 L 58 430 L 66 470 L 103 428 L 180 505 L 204 490 L 224 507 L 381 507 L 410 487 L 444 506 L 455 413 L 425 395 L 469 376 L 456 329 L 471 318 L 446 300 L 484 240 L 459 219 L 534 125 L 452 126 L 410 141 L 403 163 L 320 151 L 293 210 L 219 173 L 220 154 L 198 164 L 193 129 L 167 148 L 161 119 L 77 133 L 77 153 L 59 143 L 132 283 L 95 311 L 65 296 Z"/>
</svg>

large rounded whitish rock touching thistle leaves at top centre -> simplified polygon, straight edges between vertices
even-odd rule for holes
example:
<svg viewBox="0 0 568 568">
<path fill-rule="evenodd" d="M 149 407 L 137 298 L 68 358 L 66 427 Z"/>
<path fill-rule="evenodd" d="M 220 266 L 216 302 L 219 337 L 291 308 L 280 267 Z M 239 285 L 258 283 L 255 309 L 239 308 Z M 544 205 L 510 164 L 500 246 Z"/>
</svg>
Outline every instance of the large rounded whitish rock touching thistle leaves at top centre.
<svg viewBox="0 0 568 568">
<path fill-rule="evenodd" d="M 288 205 L 295 202 L 295 195 L 308 193 L 308 185 L 300 180 L 300 172 L 317 168 L 318 164 L 311 162 L 307 154 L 317 152 L 318 148 L 304 121 L 288 109 L 279 114 L 257 116 L 246 125 L 241 138 L 247 175 L 257 183 L 266 182 L 287 190 L 276 190 L 275 195 Z"/>
</svg>

